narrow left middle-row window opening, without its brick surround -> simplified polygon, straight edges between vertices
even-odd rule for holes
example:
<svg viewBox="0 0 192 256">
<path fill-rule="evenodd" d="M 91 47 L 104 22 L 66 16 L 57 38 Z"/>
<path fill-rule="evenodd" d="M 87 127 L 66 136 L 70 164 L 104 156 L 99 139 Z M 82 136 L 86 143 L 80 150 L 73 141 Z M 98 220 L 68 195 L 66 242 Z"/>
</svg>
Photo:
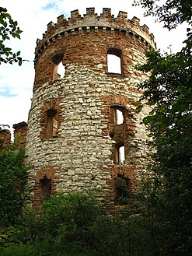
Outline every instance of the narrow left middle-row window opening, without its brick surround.
<svg viewBox="0 0 192 256">
<path fill-rule="evenodd" d="M 58 135 L 58 121 L 56 119 L 57 110 L 47 110 L 47 139 Z"/>
</svg>

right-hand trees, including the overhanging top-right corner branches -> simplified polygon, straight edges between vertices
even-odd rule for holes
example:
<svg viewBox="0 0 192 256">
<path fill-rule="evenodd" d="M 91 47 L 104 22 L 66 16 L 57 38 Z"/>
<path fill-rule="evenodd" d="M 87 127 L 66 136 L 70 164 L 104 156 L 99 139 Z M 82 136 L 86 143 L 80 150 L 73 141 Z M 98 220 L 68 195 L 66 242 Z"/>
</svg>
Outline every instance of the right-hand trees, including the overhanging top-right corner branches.
<svg viewBox="0 0 192 256">
<path fill-rule="evenodd" d="M 156 0 L 139 2 L 147 9 L 146 15 L 155 16 L 169 30 L 183 22 L 191 26 L 190 1 L 167 0 L 161 6 Z M 180 52 L 147 52 L 147 62 L 138 67 L 151 73 L 139 86 L 144 90 L 141 100 L 152 106 L 144 123 L 155 149 L 142 203 L 158 255 L 190 256 L 192 251 L 191 39 L 189 27 L 186 46 Z"/>
</svg>

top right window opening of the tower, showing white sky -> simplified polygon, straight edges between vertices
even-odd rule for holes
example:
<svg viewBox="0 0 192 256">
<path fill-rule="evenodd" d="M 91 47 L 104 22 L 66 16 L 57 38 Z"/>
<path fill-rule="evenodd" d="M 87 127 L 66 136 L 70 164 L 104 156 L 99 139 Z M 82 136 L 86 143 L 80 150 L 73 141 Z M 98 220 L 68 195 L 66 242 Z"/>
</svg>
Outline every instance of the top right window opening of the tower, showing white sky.
<svg viewBox="0 0 192 256">
<path fill-rule="evenodd" d="M 107 72 L 122 74 L 121 70 L 121 51 L 110 49 L 107 52 Z"/>
</svg>

